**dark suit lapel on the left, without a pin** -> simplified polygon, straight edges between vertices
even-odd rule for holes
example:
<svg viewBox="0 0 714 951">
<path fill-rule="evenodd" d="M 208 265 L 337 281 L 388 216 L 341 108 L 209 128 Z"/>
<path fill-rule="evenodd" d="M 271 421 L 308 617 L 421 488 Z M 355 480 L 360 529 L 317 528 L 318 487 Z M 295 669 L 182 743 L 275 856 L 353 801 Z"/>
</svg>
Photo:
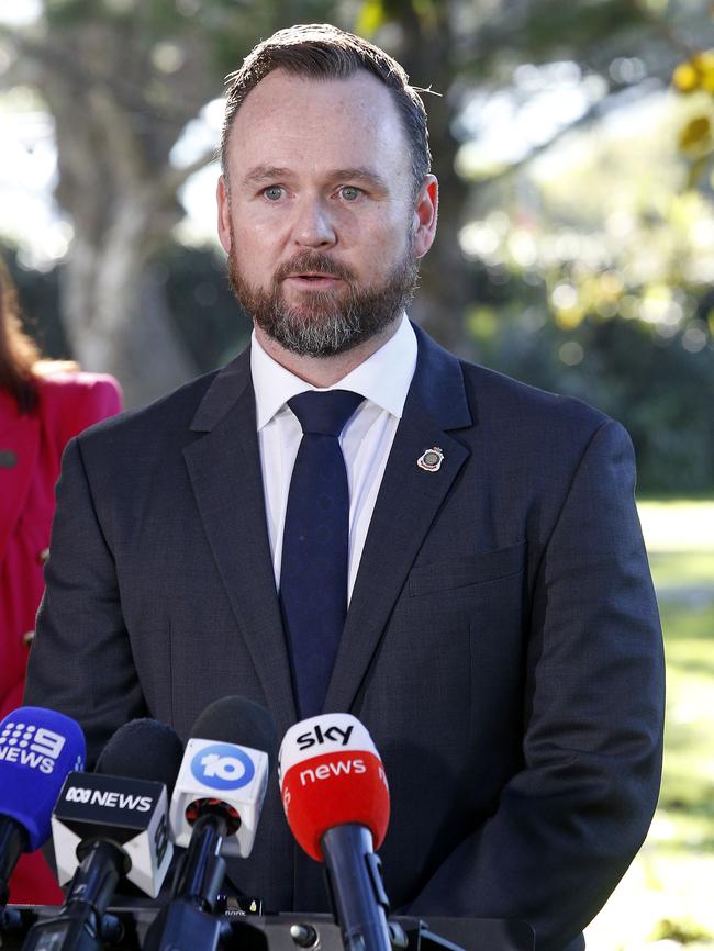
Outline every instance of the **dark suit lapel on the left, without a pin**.
<svg viewBox="0 0 714 951">
<path fill-rule="evenodd" d="M 237 624 L 276 717 L 297 719 L 265 516 L 249 351 L 222 370 L 183 450 L 196 501 Z"/>
</svg>

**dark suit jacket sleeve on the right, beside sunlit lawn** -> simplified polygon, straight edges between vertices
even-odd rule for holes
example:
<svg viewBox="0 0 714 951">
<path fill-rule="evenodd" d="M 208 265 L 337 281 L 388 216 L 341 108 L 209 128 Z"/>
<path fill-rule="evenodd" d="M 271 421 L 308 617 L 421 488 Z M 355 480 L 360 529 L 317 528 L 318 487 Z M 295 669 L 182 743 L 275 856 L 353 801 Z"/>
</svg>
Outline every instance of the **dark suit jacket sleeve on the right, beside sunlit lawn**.
<svg viewBox="0 0 714 951">
<path fill-rule="evenodd" d="M 632 445 L 590 440 L 531 604 L 524 768 L 412 914 L 522 918 L 537 947 L 581 946 L 647 832 L 659 790 L 661 631 L 634 505 Z"/>
</svg>

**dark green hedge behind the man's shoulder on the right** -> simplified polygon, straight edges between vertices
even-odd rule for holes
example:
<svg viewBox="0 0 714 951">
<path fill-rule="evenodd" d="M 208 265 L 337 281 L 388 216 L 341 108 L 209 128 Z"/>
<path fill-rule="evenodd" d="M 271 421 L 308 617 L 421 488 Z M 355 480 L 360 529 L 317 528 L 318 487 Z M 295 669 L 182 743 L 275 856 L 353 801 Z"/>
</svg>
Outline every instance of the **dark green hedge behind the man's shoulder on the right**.
<svg viewBox="0 0 714 951">
<path fill-rule="evenodd" d="M 480 362 L 576 396 L 629 432 L 643 492 L 714 484 L 714 350 L 690 353 L 685 331 L 658 339 L 651 326 L 587 316 L 573 327 L 548 317 L 543 282 L 481 269 L 469 315 Z"/>
</svg>

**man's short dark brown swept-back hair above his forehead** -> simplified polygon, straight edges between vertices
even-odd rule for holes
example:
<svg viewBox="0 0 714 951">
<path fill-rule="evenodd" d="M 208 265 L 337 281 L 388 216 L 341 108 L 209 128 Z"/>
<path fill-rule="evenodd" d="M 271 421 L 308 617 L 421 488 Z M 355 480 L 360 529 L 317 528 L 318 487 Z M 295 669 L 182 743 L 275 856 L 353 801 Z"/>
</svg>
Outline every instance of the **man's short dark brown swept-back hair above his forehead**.
<svg viewBox="0 0 714 951">
<path fill-rule="evenodd" d="M 230 85 L 221 133 L 221 166 L 224 175 L 227 170 L 226 152 L 233 120 L 250 90 L 275 69 L 313 79 L 347 79 L 359 69 L 376 76 L 391 91 L 399 110 L 409 141 L 414 190 L 421 188 L 432 165 L 426 110 L 421 96 L 409 85 L 409 76 L 395 59 L 372 43 L 330 23 L 279 30 L 258 43 L 243 60 L 243 66 L 226 78 Z"/>
</svg>

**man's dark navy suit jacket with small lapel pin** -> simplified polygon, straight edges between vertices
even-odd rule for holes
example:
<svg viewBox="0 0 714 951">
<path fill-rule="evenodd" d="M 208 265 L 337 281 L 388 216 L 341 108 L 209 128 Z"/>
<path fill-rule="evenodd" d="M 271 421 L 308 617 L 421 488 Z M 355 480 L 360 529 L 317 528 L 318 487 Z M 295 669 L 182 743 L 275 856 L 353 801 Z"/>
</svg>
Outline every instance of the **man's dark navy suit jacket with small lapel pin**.
<svg viewBox="0 0 714 951">
<path fill-rule="evenodd" d="M 544 951 L 581 947 L 659 786 L 632 446 L 589 406 L 417 336 L 325 711 L 359 717 L 382 756 L 394 907 L 522 918 Z M 25 701 L 78 719 L 90 756 L 136 716 L 186 739 L 228 694 L 280 736 L 295 721 L 247 353 L 70 443 L 46 582 Z M 232 874 L 268 910 L 327 909 L 275 779 Z"/>
</svg>

